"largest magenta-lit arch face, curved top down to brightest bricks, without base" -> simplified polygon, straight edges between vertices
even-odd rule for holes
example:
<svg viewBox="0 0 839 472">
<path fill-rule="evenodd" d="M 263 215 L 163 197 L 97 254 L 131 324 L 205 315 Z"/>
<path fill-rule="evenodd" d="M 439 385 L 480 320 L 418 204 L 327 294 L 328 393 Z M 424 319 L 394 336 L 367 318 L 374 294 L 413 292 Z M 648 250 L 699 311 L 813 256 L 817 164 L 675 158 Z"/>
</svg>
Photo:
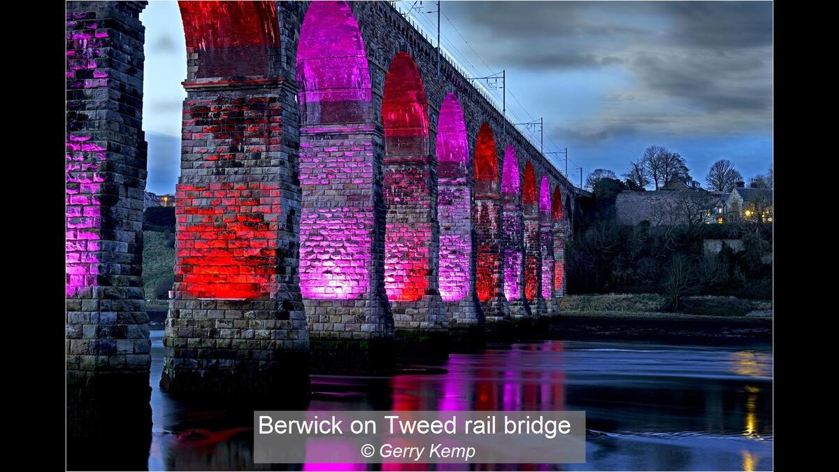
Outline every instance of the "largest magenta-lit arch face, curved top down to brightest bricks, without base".
<svg viewBox="0 0 839 472">
<path fill-rule="evenodd" d="M 377 197 L 372 134 L 340 126 L 369 122 L 372 93 L 362 37 L 346 2 L 310 3 L 296 66 L 300 290 L 308 299 L 354 300 L 368 293 L 375 271 L 376 217 L 370 203 Z M 343 189 L 353 181 L 367 185 Z M 336 184 L 342 189 L 337 194 L 331 192 Z"/>
</svg>

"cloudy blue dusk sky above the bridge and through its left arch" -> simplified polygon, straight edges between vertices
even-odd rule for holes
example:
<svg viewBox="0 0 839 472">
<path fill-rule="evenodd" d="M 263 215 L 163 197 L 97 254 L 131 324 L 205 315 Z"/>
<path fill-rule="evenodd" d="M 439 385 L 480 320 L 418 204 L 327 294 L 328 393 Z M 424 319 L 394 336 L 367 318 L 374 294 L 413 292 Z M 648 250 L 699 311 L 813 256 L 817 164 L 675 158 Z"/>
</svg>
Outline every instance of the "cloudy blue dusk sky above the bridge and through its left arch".
<svg viewBox="0 0 839 472">
<path fill-rule="evenodd" d="M 508 115 L 545 118 L 545 151 L 568 148 L 575 183 L 579 167 L 620 176 L 651 144 L 680 153 L 703 186 L 717 159 L 747 180 L 772 163 L 771 2 L 442 2 L 442 12 L 443 47 L 477 76 L 507 71 Z M 414 16 L 435 35 L 436 13 Z M 141 19 L 148 190 L 170 193 L 184 33 L 174 1 L 149 2 Z"/>
</svg>

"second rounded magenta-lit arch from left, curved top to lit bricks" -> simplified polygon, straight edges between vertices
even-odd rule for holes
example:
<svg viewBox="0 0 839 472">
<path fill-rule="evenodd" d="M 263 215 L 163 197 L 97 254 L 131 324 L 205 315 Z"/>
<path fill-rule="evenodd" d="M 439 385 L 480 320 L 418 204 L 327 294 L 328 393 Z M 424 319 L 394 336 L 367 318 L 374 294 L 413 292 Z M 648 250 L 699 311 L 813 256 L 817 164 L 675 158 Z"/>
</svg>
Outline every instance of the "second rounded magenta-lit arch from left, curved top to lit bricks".
<svg viewBox="0 0 839 472">
<path fill-rule="evenodd" d="M 472 285 L 472 186 L 469 142 L 461 103 L 449 93 L 437 121 L 437 212 L 440 221 L 440 297 L 461 302 Z"/>
</svg>

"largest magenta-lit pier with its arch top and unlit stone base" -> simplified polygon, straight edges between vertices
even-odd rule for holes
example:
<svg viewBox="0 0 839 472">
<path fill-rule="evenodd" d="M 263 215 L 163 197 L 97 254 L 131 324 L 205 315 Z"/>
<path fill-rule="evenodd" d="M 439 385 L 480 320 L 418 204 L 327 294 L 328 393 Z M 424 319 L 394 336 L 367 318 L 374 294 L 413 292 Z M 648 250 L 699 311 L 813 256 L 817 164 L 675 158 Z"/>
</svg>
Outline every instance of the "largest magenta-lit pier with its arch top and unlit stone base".
<svg viewBox="0 0 839 472">
<path fill-rule="evenodd" d="M 300 291 L 313 353 L 334 357 L 336 340 L 387 338 L 393 330 L 383 286 L 383 137 L 372 123 L 367 52 L 346 2 L 305 7 L 295 77 Z M 340 360 L 317 362 L 341 370 Z"/>
</svg>

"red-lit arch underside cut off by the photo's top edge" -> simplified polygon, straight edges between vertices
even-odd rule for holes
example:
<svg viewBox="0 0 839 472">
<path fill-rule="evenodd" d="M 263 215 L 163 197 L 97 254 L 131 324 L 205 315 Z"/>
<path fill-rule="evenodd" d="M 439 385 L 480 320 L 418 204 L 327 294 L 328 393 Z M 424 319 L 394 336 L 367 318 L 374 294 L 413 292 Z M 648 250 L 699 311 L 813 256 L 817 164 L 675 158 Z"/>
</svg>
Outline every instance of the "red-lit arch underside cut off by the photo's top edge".
<svg viewBox="0 0 839 472">
<path fill-rule="evenodd" d="M 178 2 L 196 78 L 264 76 L 279 49 L 274 2 Z M 191 60 L 192 58 L 190 58 Z"/>
</svg>

